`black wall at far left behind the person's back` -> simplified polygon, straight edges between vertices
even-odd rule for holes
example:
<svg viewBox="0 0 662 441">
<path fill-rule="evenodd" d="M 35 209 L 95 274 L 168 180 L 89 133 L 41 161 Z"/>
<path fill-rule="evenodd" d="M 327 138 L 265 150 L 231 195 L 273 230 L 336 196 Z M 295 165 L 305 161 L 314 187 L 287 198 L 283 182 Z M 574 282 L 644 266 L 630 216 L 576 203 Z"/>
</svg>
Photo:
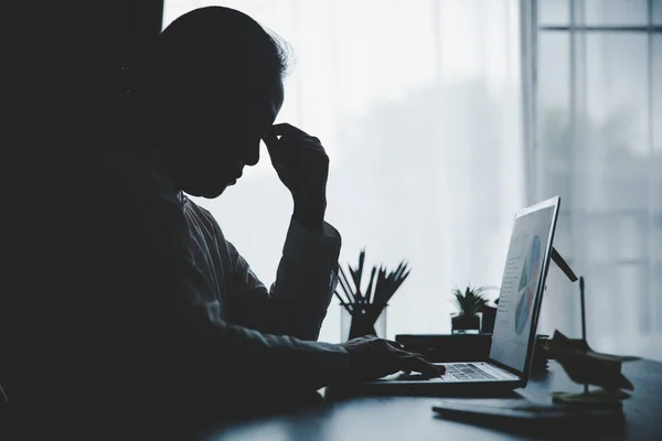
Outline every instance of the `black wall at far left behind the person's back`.
<svg viewBox="0 0 662 441">
<path fill-rule="evenodd" d="M 25 4 L 8 14 L 15 33 L 3 51 L 0 152 L 8 169 L 0 384 L 10 400 L 21 369 L 30 374 L 25 359 L 40 358 L 42 324 L 56 321 L 49 302 L 66 295 L 65 275 L 76 271 L 72 225 L 86 202 L 76 158 L 92 147 L 98 110 L 121 94 L 121 67 L 160 32 L 163 10 L 162 0 L 17 3 Z M 47 373 L 47 363 L 28 366 Z"/>
</svg>

